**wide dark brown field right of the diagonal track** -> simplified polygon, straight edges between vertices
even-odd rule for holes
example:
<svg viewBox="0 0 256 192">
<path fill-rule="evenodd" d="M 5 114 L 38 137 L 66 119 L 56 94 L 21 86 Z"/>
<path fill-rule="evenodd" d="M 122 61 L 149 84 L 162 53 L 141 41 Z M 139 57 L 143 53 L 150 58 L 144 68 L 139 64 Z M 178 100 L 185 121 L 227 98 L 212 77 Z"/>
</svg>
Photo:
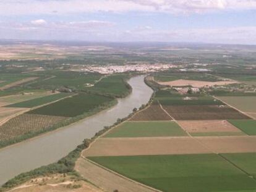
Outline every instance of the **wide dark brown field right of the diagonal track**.
<svg viewBox="0 0 256 192">
<path fill-rule="evenodd" d="M 176 120 L 250 119 L 229 106 L 163 106 Z"/>
</svg>

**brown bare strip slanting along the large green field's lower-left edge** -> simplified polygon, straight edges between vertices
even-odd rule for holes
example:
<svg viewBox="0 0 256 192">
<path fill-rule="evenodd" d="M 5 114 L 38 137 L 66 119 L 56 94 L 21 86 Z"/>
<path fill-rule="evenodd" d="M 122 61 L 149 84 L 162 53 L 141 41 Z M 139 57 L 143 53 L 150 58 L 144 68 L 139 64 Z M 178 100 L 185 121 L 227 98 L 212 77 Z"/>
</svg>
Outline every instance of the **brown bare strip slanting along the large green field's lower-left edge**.
<svg viewBox="0 0 256 192">
<path fill-rule="evenodd" d="M 80 175 L 92 182 L 96 186 L 99 186 L 104 191 L 126 191 L 126 192 L 152 192 L 150 188 L 139 185 L 138 183 L 132 182 L 127 178 L 123 178 L 113 172 L 109 172 L 92 162 L 89 162 L 82 157 L 80 157 L 76 164 L 75 170 L 80 173 Z"/>
</svg>

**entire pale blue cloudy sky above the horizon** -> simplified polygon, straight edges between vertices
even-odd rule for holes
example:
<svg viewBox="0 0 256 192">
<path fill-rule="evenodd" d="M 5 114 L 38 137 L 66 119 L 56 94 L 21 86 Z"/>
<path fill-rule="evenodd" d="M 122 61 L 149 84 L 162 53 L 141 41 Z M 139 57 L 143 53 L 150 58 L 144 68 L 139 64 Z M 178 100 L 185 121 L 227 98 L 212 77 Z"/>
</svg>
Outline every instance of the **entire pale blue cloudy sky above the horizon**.
<svg viewBox="0 0 256 192">
<path fill-rule="evenodd" d="M 256 0 L 0 0 L 0 39 L 256 44 Z"/>
</svg>

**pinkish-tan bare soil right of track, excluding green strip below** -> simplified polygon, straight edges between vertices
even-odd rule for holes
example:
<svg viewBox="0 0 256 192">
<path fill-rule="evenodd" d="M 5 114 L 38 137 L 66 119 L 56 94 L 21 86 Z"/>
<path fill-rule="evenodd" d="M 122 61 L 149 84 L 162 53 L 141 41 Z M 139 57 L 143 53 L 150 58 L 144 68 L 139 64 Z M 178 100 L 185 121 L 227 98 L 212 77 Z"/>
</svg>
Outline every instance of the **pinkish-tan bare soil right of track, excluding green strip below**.
<svg viewBox="0 0 256 192">
<path fill-rule="evenodd" d="M 178 123 L 189 133 L 242 132 L 227 120 L 181 120 Z"/>
</svg>

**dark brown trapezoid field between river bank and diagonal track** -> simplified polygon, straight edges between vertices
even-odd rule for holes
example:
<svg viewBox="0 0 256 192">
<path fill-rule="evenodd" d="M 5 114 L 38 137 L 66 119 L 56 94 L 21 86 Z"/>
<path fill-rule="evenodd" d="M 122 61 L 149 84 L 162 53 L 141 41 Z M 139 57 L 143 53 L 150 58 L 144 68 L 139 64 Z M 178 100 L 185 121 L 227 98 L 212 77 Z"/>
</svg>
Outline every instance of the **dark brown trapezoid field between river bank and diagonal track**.
<svg viewBox="0 0 256 192">
<path fill-rule="evenodd" d="M 150 120 L 172 120 L 160 105 L 151 105 L 147 109 L 137 112 L 130 121 L 150 121 Z"/>
</svg>

